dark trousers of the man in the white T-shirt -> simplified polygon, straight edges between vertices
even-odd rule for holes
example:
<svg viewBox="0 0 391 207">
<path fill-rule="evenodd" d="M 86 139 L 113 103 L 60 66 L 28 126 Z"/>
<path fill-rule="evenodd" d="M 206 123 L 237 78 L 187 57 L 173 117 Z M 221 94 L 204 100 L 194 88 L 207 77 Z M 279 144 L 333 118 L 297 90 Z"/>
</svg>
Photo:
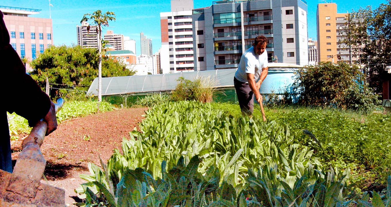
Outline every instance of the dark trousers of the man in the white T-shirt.
<svg viewBox="0 0 391 207">
<path fill-rule="evenodd" d="M 240 110 L 243 114 L 252 115 L 254 112 L 254 93 L 250 86 L 248 83 L 238 81 L 236 77 L 233 78 L 233 85 L 238 96 Z"/>
</svg>

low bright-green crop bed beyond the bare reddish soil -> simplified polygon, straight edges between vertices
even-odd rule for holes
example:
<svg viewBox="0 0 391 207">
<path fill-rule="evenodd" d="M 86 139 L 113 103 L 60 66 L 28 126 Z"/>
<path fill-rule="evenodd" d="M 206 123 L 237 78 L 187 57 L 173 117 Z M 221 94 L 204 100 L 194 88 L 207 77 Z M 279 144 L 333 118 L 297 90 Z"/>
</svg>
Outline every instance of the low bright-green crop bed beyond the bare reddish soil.
<svg viewBox="0 0 391 207">
<path fill-rule="evenodd" d="M 57 113 L 57 122 L 61 123 L 68 119 L 84 117 L 97 113 L 97 104 L 97 101 L 65 102 L 63 108 Z M 107 102 L 99 103 L 99 112 L 107 112 L 113 109 L 113 105 Z M 8 112 L 7 116 L 10 136 L 30 133 L 31 128 L 25 118 L 17 115 L 16 113 L 9 114 Z"/>
</svg>

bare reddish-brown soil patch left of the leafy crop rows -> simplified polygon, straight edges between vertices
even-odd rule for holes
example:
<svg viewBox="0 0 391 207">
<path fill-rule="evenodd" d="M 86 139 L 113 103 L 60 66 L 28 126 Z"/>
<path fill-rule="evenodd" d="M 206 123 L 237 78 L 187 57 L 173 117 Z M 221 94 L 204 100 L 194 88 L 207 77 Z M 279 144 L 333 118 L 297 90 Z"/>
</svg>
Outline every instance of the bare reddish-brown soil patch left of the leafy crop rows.
<svg viewBox="0 0 391 207">
<path fill-rule="evenodd" d="M 66 206 L 73 207 L 72 203 L 77 201 L 74 189 L 86 182 L 79 175 L 90 174 L 88 163 L 101 166 L 99 156 L 107 163 L 113 149 L 122 152 L 122 138 L 130 138 L 129 131 L 138 127 L 146 110 L 127 108 L 72 119 L 59 124 L 56 131 L 45 137 L 41 146 L 47 160 L 45 179 L 50 185 L 65 189 Z M 11 143 L 13 161 L 21 150 L 21 142 Z"/>
</svg>

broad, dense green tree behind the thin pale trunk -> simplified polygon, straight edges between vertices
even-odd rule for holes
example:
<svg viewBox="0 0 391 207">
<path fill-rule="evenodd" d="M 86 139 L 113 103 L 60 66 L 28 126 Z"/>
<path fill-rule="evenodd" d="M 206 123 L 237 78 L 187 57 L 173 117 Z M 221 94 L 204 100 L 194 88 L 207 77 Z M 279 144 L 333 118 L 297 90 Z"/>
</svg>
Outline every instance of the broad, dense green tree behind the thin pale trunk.
<svg viewBox="0 0 391 207">
<path fill-rule="evenodd" d="M 98 59 L 98 51 L 93 48 L 52 46 L 31 61 L 30 65 L 33 68 L 31 76 L 43 89 L 48 77 L 49 83 L 58 84 L 55 88 L 72 85 L 70 89 L 86 91 L 97 76 Z M 125 65 L 107 56 L 102 59 L 102 68 L 103 77 L 135 74 Z M 54 97 L 57 93 L 58 90 L 51 90 L 50 95 Z"/>
</svg>

